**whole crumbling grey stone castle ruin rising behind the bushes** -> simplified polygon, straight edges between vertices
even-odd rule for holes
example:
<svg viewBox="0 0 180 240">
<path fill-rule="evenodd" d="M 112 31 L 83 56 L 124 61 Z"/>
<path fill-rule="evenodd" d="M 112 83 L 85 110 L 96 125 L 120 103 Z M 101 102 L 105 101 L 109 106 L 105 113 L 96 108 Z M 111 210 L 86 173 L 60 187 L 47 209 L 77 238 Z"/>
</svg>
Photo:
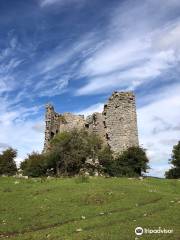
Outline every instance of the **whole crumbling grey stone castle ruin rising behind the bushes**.
<svg viewBox="0 0 180 240">
<path fill-rule="evenodd" d="M 135 95 L 133 92 L 113 92 L 102 113 L 87 118 L 72 113 L 59 114 L 50 104 L 46 105 L 44 152 L 51 139 L 64 131 L 87 129 L 98 134 L 114 153 L 131 146 L 138 146 Z"/>
</svg>

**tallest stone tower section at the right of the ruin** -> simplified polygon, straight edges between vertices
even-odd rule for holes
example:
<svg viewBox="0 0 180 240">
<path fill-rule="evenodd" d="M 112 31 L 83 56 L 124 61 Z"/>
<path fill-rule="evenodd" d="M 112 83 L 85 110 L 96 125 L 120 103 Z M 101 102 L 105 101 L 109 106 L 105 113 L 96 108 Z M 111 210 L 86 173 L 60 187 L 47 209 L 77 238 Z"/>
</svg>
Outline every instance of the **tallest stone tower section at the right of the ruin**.
<svg viewBox="0 0 180 240">
<path fill-rule="evenodd" d="M 113 152 L 138 146 L 135 96 L 132 92 L 114 92 L 104 105 L 106 139 Z"/>
</svg>

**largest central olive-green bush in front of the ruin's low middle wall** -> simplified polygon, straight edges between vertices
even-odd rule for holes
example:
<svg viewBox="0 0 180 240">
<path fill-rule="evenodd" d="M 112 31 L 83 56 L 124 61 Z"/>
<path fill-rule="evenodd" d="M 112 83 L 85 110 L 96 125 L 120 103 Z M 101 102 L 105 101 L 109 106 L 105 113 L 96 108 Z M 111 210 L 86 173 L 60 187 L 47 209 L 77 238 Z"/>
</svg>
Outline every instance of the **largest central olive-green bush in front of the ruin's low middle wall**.
<svg viewBox="0 0 180 240">
<path fill-rule="evenodd" d="M 101 147 L 101 139 L 85 130 L 57 134 L 46 154 L 48 169 L 53 168 L 57 175 L 78 174 L 87 157 L 97 157 Z"/>
</svg>

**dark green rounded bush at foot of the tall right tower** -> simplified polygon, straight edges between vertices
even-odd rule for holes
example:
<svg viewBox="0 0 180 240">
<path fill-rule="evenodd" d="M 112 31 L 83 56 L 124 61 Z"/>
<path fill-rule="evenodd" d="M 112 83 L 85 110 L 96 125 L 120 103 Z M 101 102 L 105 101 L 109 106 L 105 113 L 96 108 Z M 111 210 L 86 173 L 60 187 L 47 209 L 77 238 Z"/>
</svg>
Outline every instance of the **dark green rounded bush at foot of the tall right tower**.
<svg viewBox="0 0 180 240">
<path fill-rule="evenodd" d="M 112 176 L 138 177 L 149 168 L 146 152 L 141 147 L 130 147 L 112 163 Z"/>
</svg>

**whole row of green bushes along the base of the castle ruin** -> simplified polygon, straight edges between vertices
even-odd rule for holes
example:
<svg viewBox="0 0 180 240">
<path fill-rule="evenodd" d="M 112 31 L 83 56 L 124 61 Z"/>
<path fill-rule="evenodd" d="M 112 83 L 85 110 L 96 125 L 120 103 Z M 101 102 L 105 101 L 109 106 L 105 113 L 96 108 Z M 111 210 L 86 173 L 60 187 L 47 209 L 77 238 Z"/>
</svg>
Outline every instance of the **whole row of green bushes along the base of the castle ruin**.
<svg viewBox="0 0 180 240">
<path fill-rule="evenodd" d="M 39 176 L 107 175 L 136 177 L 148 169 L 144 149 L 131 147 L 114 155 L 101 138 L 85 130 L 62 132 L 50 143 L 45 154 L 33 152 L 21 163 L 23 174 Z"/>
</svg>

